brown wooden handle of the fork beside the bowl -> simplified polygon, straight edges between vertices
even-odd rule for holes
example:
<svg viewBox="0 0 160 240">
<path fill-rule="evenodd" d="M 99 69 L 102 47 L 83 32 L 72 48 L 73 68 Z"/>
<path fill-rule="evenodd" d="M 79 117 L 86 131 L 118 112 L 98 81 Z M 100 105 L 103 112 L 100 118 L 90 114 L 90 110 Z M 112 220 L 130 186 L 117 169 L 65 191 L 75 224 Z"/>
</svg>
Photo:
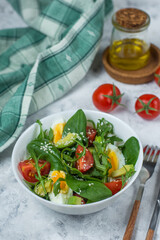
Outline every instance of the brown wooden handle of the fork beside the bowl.
<svg viewBox="0 0 160 240">
<path fill-rule="evenodd" d="M 140 203 L 141 203 L 141 199 L 142 199 L 142 195 L 143 195 L 143 191 L 144 191 L 144 184 L 140 184 L 138 193 L 136 196 L 136 200 L 133 205 L 132 213 L 131 213 L 125 234 L 123 236 L 123 240 L 130 240 L 132 237 L 134 225 L 136 223 L 136 219 L 137 219 L 137 215 L 138 215 L 138 211 L 139 211 L 139 207 L 140 207 Z"/>
</svg>

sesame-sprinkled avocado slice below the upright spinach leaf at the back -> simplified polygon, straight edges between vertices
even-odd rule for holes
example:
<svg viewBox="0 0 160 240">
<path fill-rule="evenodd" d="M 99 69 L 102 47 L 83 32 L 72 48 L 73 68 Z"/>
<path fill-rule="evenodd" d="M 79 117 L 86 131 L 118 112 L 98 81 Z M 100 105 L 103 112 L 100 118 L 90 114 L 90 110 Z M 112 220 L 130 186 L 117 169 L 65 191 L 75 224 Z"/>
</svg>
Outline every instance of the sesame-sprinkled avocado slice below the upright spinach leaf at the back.
<svg viewBox="0 0 160 240">
<path fill-rule="evenodd" d="M 56 142 L 55 146 L 60 149 L 65 147 L 71 147 L 75 143 L 76 138 L 76 133 L 68 133 L 66 137 Z"/>
</svg>

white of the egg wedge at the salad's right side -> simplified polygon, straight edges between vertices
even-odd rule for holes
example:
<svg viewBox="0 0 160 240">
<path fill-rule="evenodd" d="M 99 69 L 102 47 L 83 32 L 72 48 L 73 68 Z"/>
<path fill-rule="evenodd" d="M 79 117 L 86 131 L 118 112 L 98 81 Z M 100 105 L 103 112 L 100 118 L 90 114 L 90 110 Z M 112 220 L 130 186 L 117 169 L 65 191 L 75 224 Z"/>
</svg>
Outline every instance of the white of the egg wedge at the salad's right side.
<svg viewBox="0 0 160 240">
<path fill-rule="evenodd" d="M 120 151 L 120 149 L 117 146 L 109 143 L 106 147 L 106 150 L 107 151 L 110 150 L 115 153 L 115 155 L 118 159 L 118 169 L 122 168 L 125 165 L 125 158 L 123 156 L 123 153 Z"/>
</svg>

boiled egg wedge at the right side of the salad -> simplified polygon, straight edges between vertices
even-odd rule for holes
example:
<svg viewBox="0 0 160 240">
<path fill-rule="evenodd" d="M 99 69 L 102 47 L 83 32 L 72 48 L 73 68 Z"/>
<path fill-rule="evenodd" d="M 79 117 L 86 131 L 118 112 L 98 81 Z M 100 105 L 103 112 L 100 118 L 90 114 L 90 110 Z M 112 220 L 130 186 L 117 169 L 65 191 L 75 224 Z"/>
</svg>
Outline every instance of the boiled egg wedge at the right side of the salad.
<svg viewBox="0 0 160 240">
<path fill-rule="evenodd" d="M 107 145 L 106 150 L 109 157 L 108 161 L 112 165 L 112 168 L 108 171 L 108 176 L 111 177 L 113 171 L 120 169 L 125 165 L 125 158 L 119 148 L 111 143 Z"/>
</svg>

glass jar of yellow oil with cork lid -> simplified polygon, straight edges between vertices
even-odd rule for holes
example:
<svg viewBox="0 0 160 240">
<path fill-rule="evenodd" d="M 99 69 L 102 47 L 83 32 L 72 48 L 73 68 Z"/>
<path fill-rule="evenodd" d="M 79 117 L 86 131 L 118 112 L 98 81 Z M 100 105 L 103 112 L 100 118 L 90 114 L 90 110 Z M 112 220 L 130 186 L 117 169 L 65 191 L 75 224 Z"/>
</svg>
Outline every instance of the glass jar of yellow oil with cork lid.
<svg viewBox="0 0 160 240">
<path fill-rule="evenodd" d="M 146 66 L 150 57 L 149 15 L 136 8 L 120 9 L 113 15 L 112 24 L 110 64 L 123 70 Z"/>
</svg>

